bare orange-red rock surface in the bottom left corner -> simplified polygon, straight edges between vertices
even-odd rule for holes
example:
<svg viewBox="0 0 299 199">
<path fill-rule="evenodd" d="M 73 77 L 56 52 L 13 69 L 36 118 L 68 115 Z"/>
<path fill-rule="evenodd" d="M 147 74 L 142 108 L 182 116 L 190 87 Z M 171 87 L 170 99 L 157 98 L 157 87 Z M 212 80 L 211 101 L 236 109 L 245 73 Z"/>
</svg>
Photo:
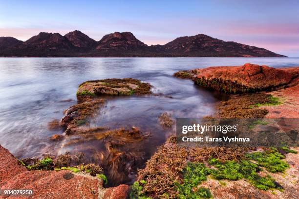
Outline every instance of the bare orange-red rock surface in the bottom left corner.
<svg viewBox="0 0 299 199">
<path fill-rule="evenodd" d="M 103 188 L 103 181 L 68 170 L 28 171 L 9 151 L 0 146 L 0 189 L 32 189 L 27 197 L 5 196 L 12 199 L 125 199 L 128 185 Z"/>
</svg>

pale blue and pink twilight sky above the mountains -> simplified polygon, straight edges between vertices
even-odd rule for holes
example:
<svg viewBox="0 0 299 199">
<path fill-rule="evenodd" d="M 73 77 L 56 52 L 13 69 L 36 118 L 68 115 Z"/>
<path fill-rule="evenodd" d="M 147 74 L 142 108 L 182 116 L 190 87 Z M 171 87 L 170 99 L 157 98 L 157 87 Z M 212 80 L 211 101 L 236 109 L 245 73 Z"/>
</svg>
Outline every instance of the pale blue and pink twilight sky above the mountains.
<svg viewBox="0 0 299 199">
<path fill-rule="evenodd" d="M 130 31 L 144 43 L 211 37 L 299 57 L 299 0 L 0 0 L 0 37 Z"/>
</svg>

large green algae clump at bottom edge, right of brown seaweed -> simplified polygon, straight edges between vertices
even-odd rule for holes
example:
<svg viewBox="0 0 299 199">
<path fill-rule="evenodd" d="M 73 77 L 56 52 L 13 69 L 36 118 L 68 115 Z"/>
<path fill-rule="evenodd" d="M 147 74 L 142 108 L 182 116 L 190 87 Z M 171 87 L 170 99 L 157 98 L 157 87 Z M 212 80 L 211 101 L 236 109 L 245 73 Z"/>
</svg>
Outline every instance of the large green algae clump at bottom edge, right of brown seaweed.
<svg viewBox="0 0 299 199">
<path fill-rule="evenodd" d="M 198 188 L 194 191 L 194 187 L 201 184 L 202 181 L 207 180 L 207 175 L 211 173 L 211 170 L 207 168 L 203 163 L 188 162 L 187 167 L 183 171 L 183 183 L 175 182 L 179 192 L 178 198 L 180 199 L 200 199 L 211 198 L 211 192 L 207 188 Z"/>
</svg>

